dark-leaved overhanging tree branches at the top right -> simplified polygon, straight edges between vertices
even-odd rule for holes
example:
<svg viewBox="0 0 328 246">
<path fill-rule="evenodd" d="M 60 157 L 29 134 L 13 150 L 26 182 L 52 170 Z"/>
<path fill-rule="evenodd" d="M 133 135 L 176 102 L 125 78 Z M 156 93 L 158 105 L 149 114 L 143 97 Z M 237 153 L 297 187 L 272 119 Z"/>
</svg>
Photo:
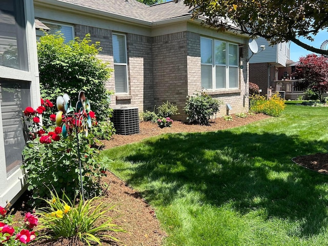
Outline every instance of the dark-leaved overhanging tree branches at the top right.
<svg viewBox="0 0 328 246">
<path fill-rule="evenodd" d="M 264 37 L 272 45 L 292 41 L 306 50 L 328 55 L 328 50 L 298 39 L 314 40 L 314 35 L 328 28 L 326 0 L 184 0 L 184 3 L 194 8 L 194 18 L 201 17 L 203 24 L 219 30 L 237 31 L 227 24 L 233 21 L 239 24 L 242 33 Z"/>
</svg>

